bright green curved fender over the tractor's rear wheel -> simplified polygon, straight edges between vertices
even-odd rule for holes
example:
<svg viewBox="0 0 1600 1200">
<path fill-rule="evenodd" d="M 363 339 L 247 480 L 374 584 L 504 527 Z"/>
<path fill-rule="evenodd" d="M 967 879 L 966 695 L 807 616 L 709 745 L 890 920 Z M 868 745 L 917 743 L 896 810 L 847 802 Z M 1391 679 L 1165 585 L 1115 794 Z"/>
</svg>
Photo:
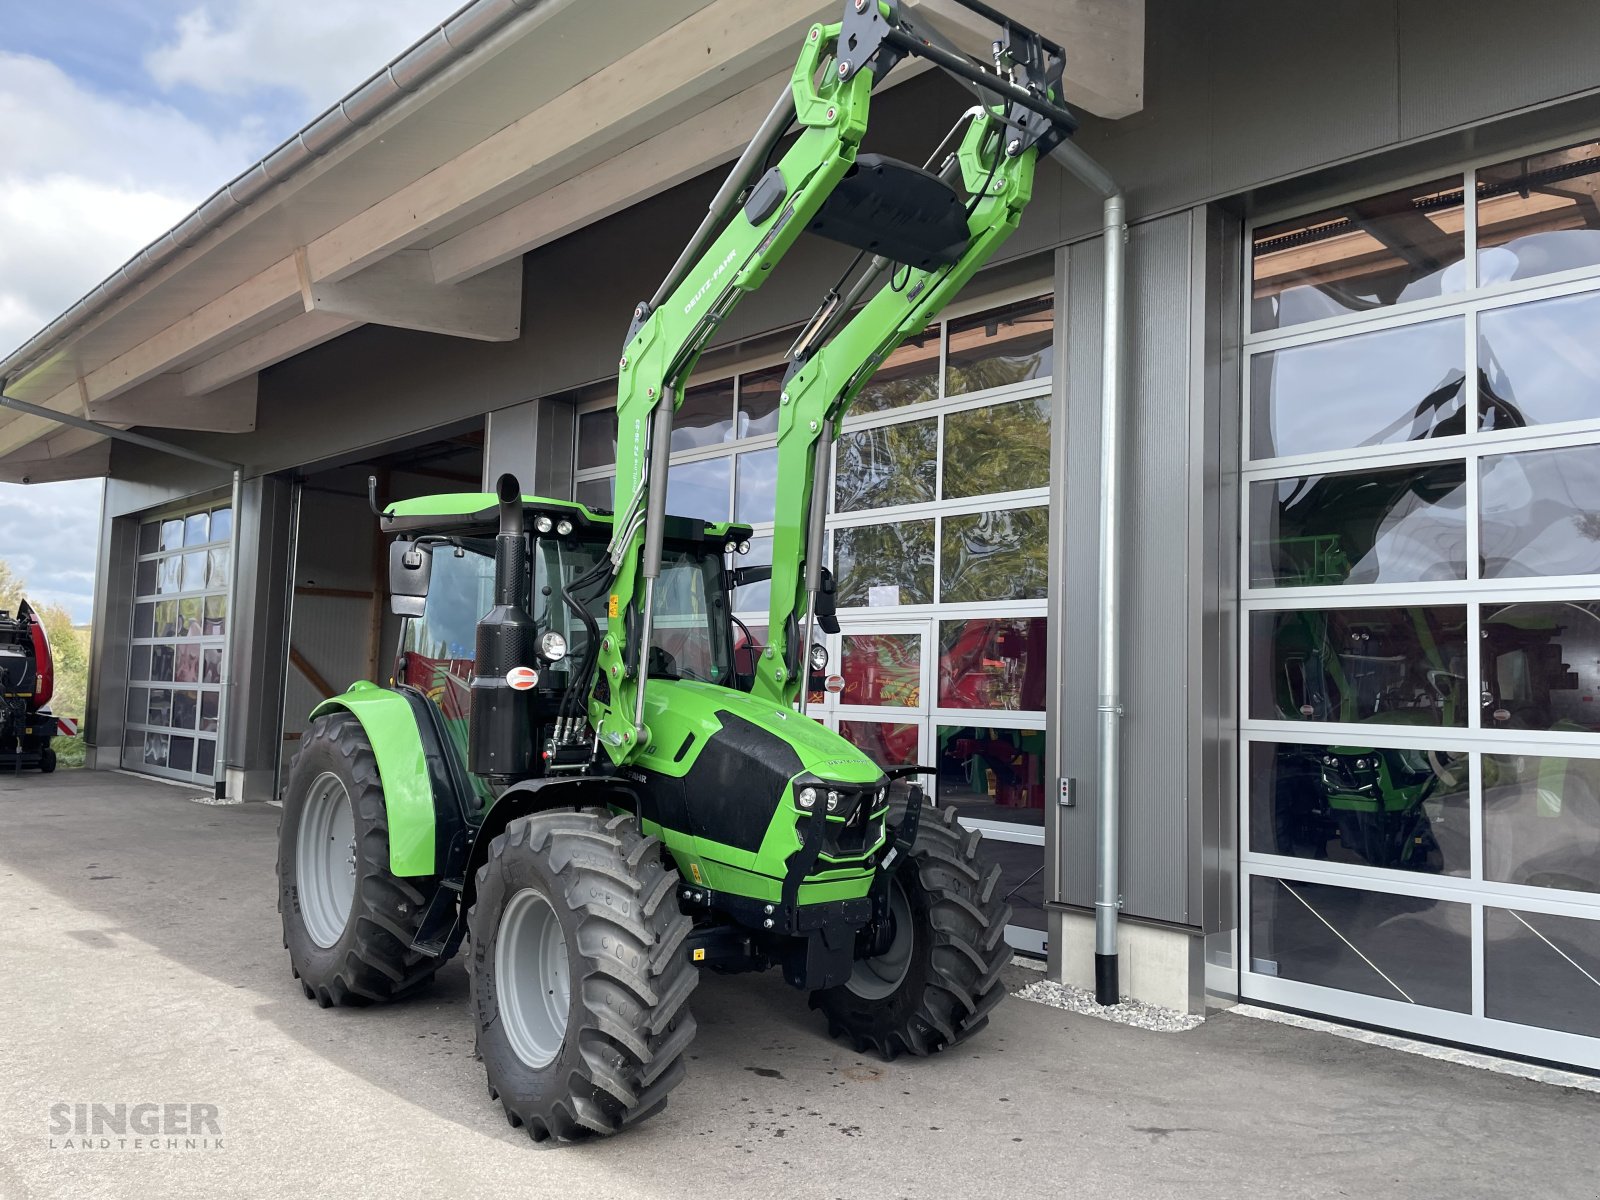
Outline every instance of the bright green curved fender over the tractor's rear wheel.
<svg viewBox="0 0 1600 1200">
<path fill-rule="evenodd" d="M 325 699 L 310 715 L 317 718 L 330 712 L 355 717 L 378 758 L 378 781 L 384 787 L 389 814 L 389 874 L 432 875 L 434 784 L 411 702 L 398 691 L 362 680 L 342 696 Z"/>
</svg>

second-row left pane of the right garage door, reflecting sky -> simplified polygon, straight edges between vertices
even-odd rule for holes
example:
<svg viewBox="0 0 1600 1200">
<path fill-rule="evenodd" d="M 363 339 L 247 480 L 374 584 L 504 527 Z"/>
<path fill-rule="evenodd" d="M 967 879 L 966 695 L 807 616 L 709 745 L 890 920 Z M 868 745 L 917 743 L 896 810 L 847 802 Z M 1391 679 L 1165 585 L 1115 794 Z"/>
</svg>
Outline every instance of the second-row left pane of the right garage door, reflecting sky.
<svg viewBox="0 0 1600 1200">
<path fill-rule="evenodd" d="M 1461 318 L 1250 360 L 1250 454 L 1317 454 L 1466 432 Z"/>
</svg>

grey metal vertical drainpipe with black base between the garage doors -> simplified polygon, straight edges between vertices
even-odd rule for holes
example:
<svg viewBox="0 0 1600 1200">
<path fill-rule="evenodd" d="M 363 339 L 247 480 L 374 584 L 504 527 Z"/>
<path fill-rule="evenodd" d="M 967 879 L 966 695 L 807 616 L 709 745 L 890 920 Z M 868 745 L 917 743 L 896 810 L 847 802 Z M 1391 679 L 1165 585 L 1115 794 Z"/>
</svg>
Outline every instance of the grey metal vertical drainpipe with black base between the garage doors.
<svg viewBox="0 0 1600 1200">
<path fill-rule="evenodd" d="M 1098 787 L 1094 824 L 1094 1000 L 1122 998 L 1117 970 L 1117 880 L 1122 814 L 1122 440 L 1126 304 L 1123 293 L 1128 224 L 1122 187 L 1074 142 L 1054 157 L 1099 192 L 1106 280 L 1101 320 L 1101 474 L 1099 474 L 1099 670 L 1098 670 Z"/>
</svg>

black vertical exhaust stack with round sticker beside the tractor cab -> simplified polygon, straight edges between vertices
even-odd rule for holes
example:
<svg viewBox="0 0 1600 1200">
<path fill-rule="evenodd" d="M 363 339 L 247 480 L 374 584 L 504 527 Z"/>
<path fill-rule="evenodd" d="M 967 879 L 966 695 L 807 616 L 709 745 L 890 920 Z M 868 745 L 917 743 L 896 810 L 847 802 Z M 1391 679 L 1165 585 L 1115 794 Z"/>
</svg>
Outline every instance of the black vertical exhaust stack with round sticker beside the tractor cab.
<svg viewBox="0 0 1600 1200">
<path fill-rule="evenodd" d="M 478 621 L 472 675 L 474 774 L 517 779 L 533 771 L 533 685 L 538 653 L 528 614 L 528 539 L 523 534 L 522 485 L 501 475 L 499 533 L 494 536 L 494 608 Z"/>
</svg>

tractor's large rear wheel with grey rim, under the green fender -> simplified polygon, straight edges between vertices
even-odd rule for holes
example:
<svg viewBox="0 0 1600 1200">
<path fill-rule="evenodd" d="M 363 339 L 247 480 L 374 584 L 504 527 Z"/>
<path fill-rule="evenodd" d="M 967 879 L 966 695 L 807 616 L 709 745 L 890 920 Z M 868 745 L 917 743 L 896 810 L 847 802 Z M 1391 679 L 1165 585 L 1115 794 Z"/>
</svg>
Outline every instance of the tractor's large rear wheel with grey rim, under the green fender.
<svg viewBox="0 0 1600 1200">
<path fill-rule="evenodd" d="M 314 720 L 278 824 L 283 946 L 306 998 L 358 1006 L 426 986 L 445 960 L 411 942 L 437 890 L 437 878 L 389 874 L 389 814 L 362 723 L 347 712 Z"/>
</svg>

